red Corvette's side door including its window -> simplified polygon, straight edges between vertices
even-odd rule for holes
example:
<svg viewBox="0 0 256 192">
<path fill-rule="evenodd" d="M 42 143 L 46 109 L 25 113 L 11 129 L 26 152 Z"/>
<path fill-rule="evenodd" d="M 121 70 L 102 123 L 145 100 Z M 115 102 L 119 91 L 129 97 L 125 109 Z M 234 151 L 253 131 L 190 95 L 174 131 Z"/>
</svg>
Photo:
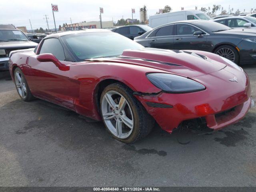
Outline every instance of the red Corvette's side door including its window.
<svg viewBox="0 0 256 192">
<path fill-rule="evenodd" d="M 51 53 L 62 64 L 67 62 L 64 49 L 57 38 L 45 39 L 40 54 Z M 37 55 L 29 57 L 30 74 L 28 84 L 34 96 L 74 109 L 74 96 L 79 92 L 79 84 L 69 78 L 70 71 L 60 70 L 53 62 L 39 62 Z"/>
</svg>

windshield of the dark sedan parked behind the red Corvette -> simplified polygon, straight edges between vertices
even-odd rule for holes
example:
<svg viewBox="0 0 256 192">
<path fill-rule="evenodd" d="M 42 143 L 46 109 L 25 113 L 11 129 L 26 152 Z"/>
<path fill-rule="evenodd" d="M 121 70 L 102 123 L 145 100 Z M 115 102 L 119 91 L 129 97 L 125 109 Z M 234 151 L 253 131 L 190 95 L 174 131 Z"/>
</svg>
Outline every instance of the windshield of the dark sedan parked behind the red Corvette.
<svg viewBox="0 0 256 192">
<path fill-rule="evenodd" d="M 214 21 L 203 21 L 203 20 L 198 20 L 197 22 L 193 23 L 196 27 L 201 28 L 202 30 L 205 30 L 206 32 L 218 32 L 218 31 L 226 31 L 230 30 L 231 28 L 214 22 Z"/>
</svg>

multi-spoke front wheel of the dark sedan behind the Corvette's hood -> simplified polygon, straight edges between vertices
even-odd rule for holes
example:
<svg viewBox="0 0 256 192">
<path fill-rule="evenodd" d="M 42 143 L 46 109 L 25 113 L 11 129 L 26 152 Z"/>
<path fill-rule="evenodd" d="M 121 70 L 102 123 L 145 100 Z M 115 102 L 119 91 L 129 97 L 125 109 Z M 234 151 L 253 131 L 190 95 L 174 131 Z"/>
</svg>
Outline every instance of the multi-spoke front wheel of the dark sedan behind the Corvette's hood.
<svg viewBox="0 0 256 192">
<path fill-rule="evenodd" d="M 215 51 L 215 54 L 218 54 L 224 58 L 231 60 L 232 62 L 239 64 L 239 54 L 236 48 L 230 45 L 222 45 L 218 47 Z"/>
</svg>

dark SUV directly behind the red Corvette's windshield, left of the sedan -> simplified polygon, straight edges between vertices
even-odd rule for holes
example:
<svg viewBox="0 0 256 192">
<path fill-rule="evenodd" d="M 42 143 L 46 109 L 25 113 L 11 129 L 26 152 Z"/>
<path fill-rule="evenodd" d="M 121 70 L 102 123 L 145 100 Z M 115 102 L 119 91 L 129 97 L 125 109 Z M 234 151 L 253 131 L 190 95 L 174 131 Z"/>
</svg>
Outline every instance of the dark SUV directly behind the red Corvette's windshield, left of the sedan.
<svg viewBox="0 0 256 192">
<path fill-rule="evenodd" d="M 112 29 L 111 31 L 119 33 L 133 40 L 134 37 L 138 37 L 150 30 L 152 30 L 152 28 L 147 25 L 129 25 L 129 26 L 117 27 Z"/>
</svg>

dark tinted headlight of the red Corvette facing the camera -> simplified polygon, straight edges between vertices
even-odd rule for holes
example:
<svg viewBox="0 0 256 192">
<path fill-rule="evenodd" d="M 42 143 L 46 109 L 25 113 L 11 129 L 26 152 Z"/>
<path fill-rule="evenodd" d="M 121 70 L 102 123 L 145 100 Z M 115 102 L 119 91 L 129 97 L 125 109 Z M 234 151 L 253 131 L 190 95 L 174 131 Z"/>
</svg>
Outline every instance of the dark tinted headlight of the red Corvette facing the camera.
<svg viewBox="0 0 256 192">
<path fill-rule="evenodd" d="M 205 86 L 194 80 L 173 74 L 149 73 L 147 78 L 154 86 L 169 93 L 188 93 L 205 89 Z"/>
</svg>

